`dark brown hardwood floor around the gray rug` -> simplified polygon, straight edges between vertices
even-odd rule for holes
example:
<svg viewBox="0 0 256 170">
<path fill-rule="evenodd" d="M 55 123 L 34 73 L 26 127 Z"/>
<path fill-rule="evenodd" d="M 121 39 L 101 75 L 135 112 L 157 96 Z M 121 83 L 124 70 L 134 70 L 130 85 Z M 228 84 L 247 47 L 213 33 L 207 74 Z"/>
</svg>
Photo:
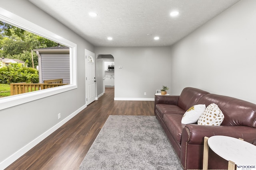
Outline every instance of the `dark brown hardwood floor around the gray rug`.
<svg viewBox="0 0 256 170">
<path fill-rule="evenodd" d="M 108 115 L 154 115 L 154 101 L 114 101 L 114 88 L 12 163 L 6 170 L 77 170 Z"/>
</svg>

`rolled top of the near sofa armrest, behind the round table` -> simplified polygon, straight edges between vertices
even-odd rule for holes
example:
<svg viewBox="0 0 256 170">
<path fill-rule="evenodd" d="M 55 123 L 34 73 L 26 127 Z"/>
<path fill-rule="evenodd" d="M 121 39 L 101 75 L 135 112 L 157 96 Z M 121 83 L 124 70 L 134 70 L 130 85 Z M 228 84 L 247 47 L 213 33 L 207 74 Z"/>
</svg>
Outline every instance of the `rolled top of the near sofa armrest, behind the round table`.
<svg viewBox="0 0 256 170">
<path fill-rule="evenodd" d="M 191 145 L 203 145 L 204 137 L 223 135 L 242 138 L 244 141 L 256 145 L 256 128 L 248 126 L 205 126 L 190 124 L 182 131 L 182 145 L 186 142 Z"/>
</svg>

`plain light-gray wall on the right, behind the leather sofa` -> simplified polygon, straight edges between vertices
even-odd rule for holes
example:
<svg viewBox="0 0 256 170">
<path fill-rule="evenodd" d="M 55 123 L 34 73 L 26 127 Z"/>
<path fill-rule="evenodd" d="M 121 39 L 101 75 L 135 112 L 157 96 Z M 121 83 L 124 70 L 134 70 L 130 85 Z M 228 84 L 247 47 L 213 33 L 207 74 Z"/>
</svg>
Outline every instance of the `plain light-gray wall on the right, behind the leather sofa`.
<svg viewBox="0 0 256 170">
<path fill-rule="evenodd" d="M 255 7 L 241 0 L 172 46 L 171 94 L 191 86 L 256 103 Z"/>
</svg>

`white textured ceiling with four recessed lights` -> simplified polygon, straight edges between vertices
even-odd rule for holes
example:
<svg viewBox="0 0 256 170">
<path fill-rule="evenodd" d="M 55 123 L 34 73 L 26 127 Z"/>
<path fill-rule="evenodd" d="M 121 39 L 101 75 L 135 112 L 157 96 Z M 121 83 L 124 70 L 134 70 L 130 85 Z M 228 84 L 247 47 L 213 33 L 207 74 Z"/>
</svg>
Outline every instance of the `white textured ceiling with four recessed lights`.
<svg viewBox="0 0 256 170">
<path fill-rule="evenodd" d="M 239 0 L 29 1 L 94 46 L 138 47 L 172 45 Z M 179 16 L 172 18 L 173 10 Z M 98 16 L 92 18 L 89 12 Z"/>
</svg>

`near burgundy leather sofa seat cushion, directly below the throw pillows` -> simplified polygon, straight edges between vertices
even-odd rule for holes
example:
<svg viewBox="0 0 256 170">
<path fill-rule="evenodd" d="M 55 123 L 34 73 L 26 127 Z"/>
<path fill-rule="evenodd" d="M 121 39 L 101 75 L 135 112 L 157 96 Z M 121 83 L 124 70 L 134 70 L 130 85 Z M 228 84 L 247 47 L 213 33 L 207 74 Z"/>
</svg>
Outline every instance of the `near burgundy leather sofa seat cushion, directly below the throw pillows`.
<svg viewBox="0 0 256 170">
<path fill-rule="evenodd" d="M 164 114 L 163 121 L 172 137 L 180 144 L 182 130 L 185 124 L 181 124 L 182 114 Z"/>
</svg>

